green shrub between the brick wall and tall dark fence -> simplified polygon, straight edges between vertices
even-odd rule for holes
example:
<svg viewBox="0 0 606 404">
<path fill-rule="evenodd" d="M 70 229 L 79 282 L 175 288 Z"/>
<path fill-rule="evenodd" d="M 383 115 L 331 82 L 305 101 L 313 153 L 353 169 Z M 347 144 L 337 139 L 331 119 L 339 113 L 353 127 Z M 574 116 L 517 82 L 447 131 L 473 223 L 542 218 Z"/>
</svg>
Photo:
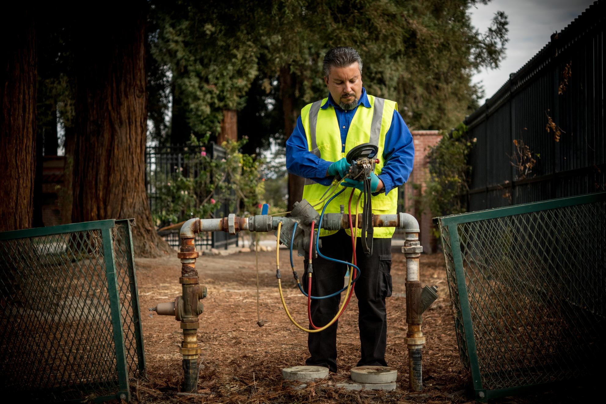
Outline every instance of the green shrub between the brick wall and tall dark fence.
<svg viewBox="0 0 606 404">
<path fill-rule="evenodd" d="M 465 212 L 462 196 L 469 190 L 471 167 L 467 156 L 476 139 L 468 139 L 467 127 L 459 124 L 427 153 L 430 179 L 426 186 L 426 205 L 435 216 Z"/>
</svg>

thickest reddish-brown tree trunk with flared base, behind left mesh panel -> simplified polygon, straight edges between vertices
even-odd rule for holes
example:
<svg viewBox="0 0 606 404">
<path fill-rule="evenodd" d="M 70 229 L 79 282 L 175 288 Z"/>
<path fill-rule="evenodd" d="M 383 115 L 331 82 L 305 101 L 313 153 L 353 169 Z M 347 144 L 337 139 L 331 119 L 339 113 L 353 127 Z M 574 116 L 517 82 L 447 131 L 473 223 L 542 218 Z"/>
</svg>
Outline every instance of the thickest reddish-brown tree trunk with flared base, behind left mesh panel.
<svg viewBox="0 0 606 404">
<path fill-rule="evenodd" d="M 156 233 L 145 193 L 144 1 L 82 19 L 76 49 L 72 220 L 135 218 L 141 257 L 171 253 Z M 111 23 L 110 23 L 111 22 Z"/>
</svg>

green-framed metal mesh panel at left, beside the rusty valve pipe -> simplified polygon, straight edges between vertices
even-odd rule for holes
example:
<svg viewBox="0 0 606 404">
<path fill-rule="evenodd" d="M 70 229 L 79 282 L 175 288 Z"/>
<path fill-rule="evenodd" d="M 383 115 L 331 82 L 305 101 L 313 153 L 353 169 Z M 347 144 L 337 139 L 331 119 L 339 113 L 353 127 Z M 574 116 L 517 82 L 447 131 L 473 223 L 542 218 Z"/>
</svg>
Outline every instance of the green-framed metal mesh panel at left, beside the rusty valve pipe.
<svg viewBox="0 0 606 404">
<path fill-rule="evenodd" d="M 132 220 L 0 233 L 0 385 L 20 402 L 130 400 L 145 375 Z"/>
</svg>

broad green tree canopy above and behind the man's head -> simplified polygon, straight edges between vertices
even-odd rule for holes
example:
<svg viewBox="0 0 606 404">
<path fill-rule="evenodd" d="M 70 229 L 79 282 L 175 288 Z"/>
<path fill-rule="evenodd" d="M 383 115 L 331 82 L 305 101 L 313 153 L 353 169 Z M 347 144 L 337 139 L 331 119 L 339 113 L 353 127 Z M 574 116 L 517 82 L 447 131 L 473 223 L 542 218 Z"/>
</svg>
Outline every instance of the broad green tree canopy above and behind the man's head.
<svg viewBox="0 0 606 404">
<path fill-rule="evenodd" d="M 191 129 L 187 136 L 218 133 L 222 110 L 241 110 L 255 81 L 275 99 L 292 97 L 295 111 L 324 98 L 322 59 L 337 45 L 359 51 L 368 93 L 397 101 L 409 127 L 443 130 L 483 97 L 471 84 L 474 71 L 498 67 L 504 56 L 504 13 L 494 15 L 485 33 L 471 24 L 471 8 L 487 2 L 155 0 L 151 19 L 158 30 L 150 41 L 156 60 L 170 67 L 173 122 L 175 113 L 182 114 Z M 287 75 L 291 81 L 282 80 Z M 291 84 L 282 88 L 281 82 Z M 247 113 L 246 119 L 255 116 Z M 283 128 L 256 136 L 276 136 Z"/>
</svg>

